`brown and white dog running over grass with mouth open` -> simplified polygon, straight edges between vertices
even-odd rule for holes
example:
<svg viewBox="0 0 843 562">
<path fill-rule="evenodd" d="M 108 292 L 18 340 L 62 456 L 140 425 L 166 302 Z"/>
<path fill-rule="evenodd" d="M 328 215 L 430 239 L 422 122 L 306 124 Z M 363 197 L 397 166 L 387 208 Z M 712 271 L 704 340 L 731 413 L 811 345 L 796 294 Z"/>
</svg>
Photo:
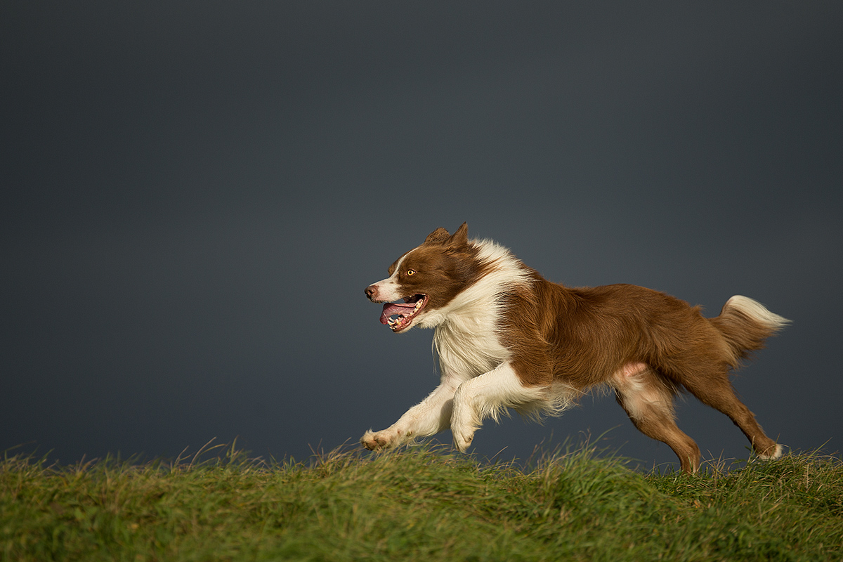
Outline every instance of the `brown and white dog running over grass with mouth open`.
<svg viewBox="0 0 843 562">
<path fill-rule="evenodd" d="M 567 287 L 544 277 L 508 249 L 437 228 L 424 244 L 366 287 L 395 333 L 434 328 L 439 386 L 400 420 L 366 431 L 377 451 L 448 428 L 460 452 L 486 418 L 508 408 L 540 418 L 559 415 L 590 388 L 615 391 L 645 435 L 666 443 L 685 473 L 700 449 L 676 426 L 674 396 L 685 389 L 744 432 L 759 458 L 779 458 L 777 444 L 735 395 L 729 372 L 789 324 L 748 297 L 731 297 L 717 318 L 700 307 L 642 286 Z"/>
</svg>

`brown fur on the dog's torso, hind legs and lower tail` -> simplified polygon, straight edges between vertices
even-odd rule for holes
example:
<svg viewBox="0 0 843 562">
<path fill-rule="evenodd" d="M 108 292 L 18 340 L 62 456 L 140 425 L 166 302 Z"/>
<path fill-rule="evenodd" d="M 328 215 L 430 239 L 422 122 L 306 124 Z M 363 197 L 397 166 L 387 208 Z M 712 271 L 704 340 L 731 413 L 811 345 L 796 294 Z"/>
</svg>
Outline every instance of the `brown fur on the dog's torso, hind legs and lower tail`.
<svg viewBox="0 0 843 562">
<path fill-rule="evenodd" d="M 776 454 L 776 442 L 728 378 L 738 359 L 760 349 L 776 329 L 728 308 L 704 318 L 699 307 L 641 286 L 568 288 L 534 270 L 531 276 L 531 287 L 507 297 L 502 324 L 510 362 L 524 384 L 561 382 L 583 391 L 609 384 L 635 426 L 667 443 L 685 472 L 699 468 L 700 451 L 675 424 L 679 388 L 728 415 L 760 455 Z M 639 364 L 632 388 L 623 369 Z M 633 394 L 642 392 L 647 396 L 633 407 Z"/>
</svg>

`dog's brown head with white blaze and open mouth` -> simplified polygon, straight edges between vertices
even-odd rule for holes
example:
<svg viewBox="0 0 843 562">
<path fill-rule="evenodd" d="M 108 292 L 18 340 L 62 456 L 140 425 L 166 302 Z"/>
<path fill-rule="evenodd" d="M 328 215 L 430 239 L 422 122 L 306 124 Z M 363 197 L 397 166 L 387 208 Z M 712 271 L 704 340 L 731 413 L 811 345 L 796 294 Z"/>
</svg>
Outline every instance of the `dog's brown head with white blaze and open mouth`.
<svg viewBox="0 0 843 562">
<path fill-rule="evenodd" d="M 447 306 L 481 276 L 476 256 L 477 248 L 469 242 L 465 223 L 453 235 L 437 228 L 424 244 L 389 266 L 389 277 L 366 287 L 366 296 L 372 302 L 385 302 L 380 321 L 393 332 L 405 331 L 414 324 L 430 328 L 441 318 L 426 322 L 426 317 L 432 318 L 432 311 Z"/>
</svg>

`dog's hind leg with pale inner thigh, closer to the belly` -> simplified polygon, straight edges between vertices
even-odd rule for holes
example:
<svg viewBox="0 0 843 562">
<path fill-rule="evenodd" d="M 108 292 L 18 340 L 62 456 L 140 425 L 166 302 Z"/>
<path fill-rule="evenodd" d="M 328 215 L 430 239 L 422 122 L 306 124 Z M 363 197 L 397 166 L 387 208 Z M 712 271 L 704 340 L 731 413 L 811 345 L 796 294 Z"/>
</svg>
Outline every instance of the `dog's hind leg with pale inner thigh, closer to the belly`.
<svg viewBox="0 0 843 562">
<path fill-rule="evenodd" d="M 666 443 L 679 457 L 682 471 L 700 468 L 700 447 L 676 426 L 674 388 L 644 363 L 628 363 L 611 377 L 618 404 L 638 431 Z"/>
</svg>

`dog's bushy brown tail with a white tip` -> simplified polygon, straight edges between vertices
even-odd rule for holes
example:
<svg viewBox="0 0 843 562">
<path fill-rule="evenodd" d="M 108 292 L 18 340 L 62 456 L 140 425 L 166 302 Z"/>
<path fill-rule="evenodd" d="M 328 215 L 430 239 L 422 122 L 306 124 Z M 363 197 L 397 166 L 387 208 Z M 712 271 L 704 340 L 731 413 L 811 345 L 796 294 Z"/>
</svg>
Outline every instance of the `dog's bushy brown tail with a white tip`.
<svg viewBox="0 0 843 562">
<path fill-rule="evenodd" d="M 711 324 L 720 330 L 731 351 L 732 367 L 739 367 L 740 360 L 752 351 L 764 349 L 764 341 L 790 324 L 790 320 L 771 313 L 763 304 L 749 297 L 735 295 L 730 298 L 720 316 L 710 318 Z"/>
</svg>

